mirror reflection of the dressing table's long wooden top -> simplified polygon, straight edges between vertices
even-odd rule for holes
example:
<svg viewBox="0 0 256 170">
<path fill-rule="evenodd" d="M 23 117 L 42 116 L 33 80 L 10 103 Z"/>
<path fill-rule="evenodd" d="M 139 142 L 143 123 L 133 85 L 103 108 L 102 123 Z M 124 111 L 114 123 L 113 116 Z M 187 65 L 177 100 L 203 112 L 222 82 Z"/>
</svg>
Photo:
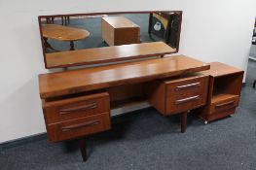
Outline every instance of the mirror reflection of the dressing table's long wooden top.
<svg viewBox="0 0 256 170">
<path fill-rule="evenodd" d="M 131 44 L 105 48 L 85 49 L 77 51 L 60 51 L 46 53 L 47 66 L 49 68 L 70 65 L 86 65 L 122 61 L 128 59 L 160 56 L 175 52 L 164 42 Z"/>
</svg>

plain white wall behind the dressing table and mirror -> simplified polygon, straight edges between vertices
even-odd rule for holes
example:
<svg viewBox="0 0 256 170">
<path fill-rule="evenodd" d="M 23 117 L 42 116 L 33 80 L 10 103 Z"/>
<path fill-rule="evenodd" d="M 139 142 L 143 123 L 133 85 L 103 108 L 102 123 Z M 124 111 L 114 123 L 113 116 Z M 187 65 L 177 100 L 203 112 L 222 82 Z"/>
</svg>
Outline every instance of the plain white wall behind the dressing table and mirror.
<svg viewBox="0 0 256 170">
<path fill-rule="evenodd" d="M 45 132 L 37 75 L 45 73 L 40 15 L 182 10 L 180 53 L 246 69 L 255 0 L 0 0 L 0 143 Z"/>
</svg>

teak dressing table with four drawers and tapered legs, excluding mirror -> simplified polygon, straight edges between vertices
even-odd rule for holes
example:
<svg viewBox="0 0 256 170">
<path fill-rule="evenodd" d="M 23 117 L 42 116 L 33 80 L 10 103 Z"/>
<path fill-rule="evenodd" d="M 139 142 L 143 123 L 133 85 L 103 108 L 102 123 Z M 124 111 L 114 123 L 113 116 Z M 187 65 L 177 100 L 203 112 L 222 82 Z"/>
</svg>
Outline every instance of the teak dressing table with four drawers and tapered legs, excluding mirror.
<svg viewBox="0 0 256 170">
<path fill-rule="evenodd" d="M 181 132 L 185 132 L 188 112 L 209 102 L 209 75 L 201 72 L 209 68 L 210 64 L 177 55 L 41 74 L 40 97 L 49 140 L 80 138 L 86 160 L 83 137 L 109 130 L 111 109 L 142 101 L 164 116 L 180 114 Z M 241 81 L 237 84 L 239 88 Z"/>
</svg>

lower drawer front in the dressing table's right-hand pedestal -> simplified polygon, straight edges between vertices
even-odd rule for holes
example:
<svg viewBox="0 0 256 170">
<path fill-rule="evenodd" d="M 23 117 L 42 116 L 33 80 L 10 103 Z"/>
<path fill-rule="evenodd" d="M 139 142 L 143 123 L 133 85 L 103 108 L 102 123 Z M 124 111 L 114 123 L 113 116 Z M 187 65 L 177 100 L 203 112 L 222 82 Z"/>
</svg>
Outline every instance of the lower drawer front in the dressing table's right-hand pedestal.
<svg viewBox="0 0 256 170">
<path fill-rule="evenodd" d="M 206 91 L 194 92 L 166 98 L 166 115 L 178 114 L 188 110 L 196 109 L 206 102 Z"/>
</svg>

